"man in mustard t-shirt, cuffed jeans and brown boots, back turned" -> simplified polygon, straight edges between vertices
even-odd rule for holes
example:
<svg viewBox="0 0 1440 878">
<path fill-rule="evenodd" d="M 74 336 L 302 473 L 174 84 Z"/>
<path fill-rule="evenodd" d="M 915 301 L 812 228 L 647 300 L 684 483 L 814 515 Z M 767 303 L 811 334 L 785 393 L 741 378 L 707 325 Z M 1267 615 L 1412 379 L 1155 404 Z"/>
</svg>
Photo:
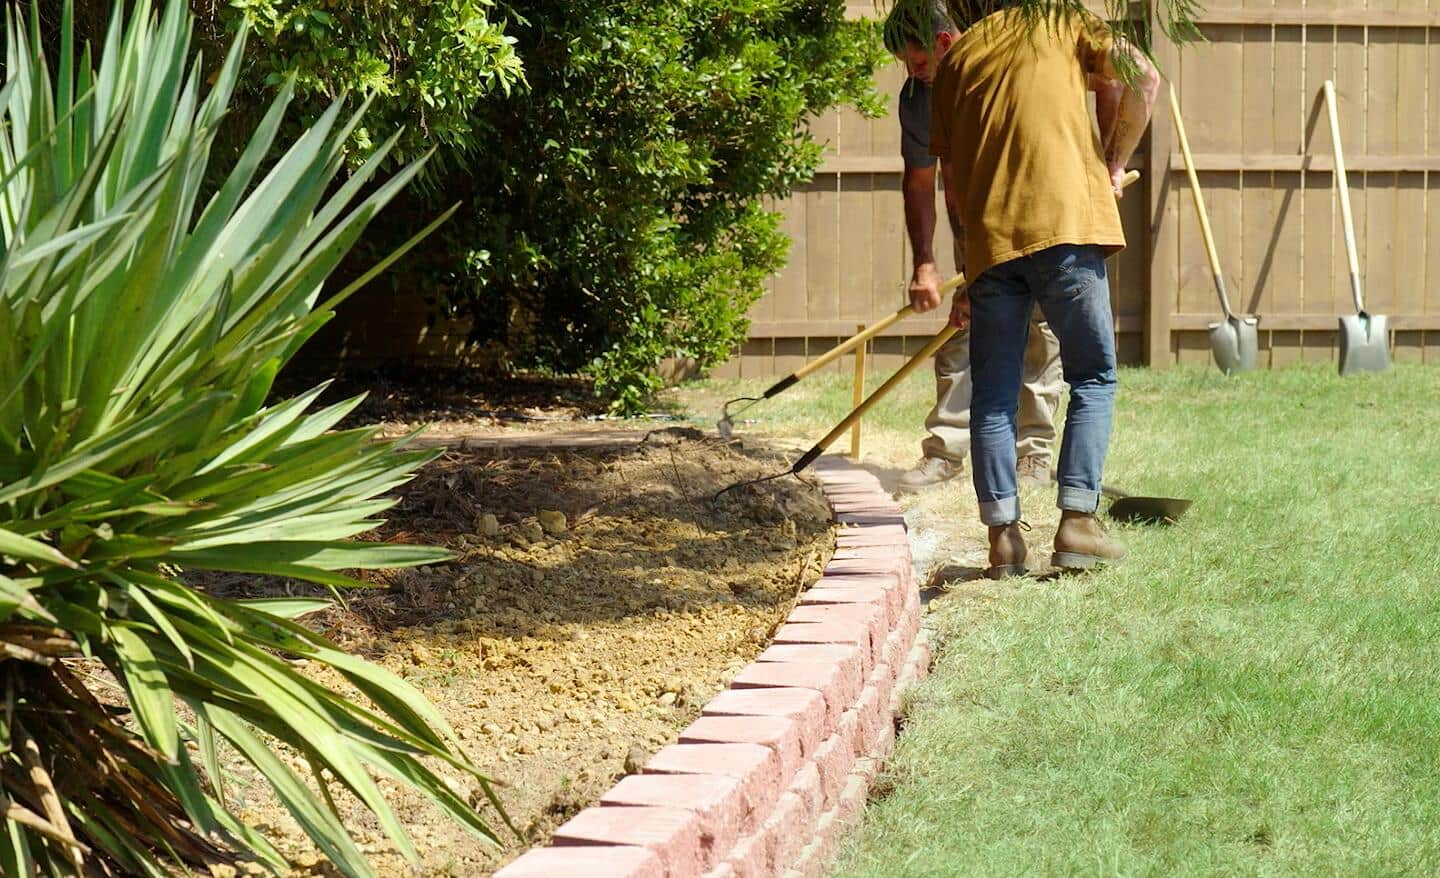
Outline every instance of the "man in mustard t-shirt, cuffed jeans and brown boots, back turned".
<svg viewBox="0 0 1440 878">
<path fill-rule="evenodd" d="M 955 297 L 952 322 L 971 324 L 971 459 L 989 525 L 989 574 L 1025 571 L 1015 406 L 1037 302 L 1070 384 L 1051 563 L 1081 570 L 1117 561 L 1125 550 L 1094 515 L 1116 389 L 1104 258 L 1125 246 L 1115 202 L 1159 75 L 1092 16 L 1034 22 L 1007 0 L 960 6 L 976 12 L 956 22 L 963 33 L 935 78 L 930 151 L 962 226 L 971 279 Z M 1133 76 L 1122 78 L 1120 58 L 1133 62 Z M 1113 118 L 1100 119 L 1103 144 L 1086 104 L 1094 79 L 1125 83 L 1106 114 Z"/>
</svg>

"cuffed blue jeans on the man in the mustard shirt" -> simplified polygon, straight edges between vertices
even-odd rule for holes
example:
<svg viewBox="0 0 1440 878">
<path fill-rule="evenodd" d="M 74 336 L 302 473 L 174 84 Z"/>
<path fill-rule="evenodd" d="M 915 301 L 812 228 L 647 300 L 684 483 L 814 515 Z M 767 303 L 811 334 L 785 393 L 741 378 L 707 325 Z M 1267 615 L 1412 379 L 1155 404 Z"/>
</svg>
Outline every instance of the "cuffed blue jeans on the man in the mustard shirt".
<svg viewBox="0 0 1440 878">
<path fill-rule="evenodd" d="M 1020 520 L 1015 407 L 1034 304 L 1060 340 L 1070 410 L 1060 445 L 1061 510 L 1094 512 L 1115 412 L 1115 327 L 1100 248 L 1058 245 L 996 265 L 971 285 L 971 459 L 985 524 Z"/>
</svg>

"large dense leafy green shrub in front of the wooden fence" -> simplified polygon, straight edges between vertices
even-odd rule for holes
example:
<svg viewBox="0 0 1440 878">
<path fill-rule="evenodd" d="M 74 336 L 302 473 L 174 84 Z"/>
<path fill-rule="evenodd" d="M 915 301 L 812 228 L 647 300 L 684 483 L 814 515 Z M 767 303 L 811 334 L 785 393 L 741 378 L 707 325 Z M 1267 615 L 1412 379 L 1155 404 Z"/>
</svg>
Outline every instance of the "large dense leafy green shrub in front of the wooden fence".
<svg viewBox="0 0 1440 878">
<path fill-rule="evenodd" d="M 240 0 L 239 10 L 279 35 L 276 22 L 315 6 Z M 367 82 L 364 59 L 380 52 L 386 22 L 413 16 L 410 33 L 422 17 L 426 27 L 446 20 L 436 9 L 478 9 L 380 4 L 373 23 L 338 26 L 337 9 L 374 6 L 330 3 L 323 29 L 311 20 L 301 36 L 275 36 L 252 63 L 266 76 L 297 71 L 328 96 Z M 441 125 L 413 85 L 377 101 L 384 119 L 444 147 L 442 170 L 402 214 L 464 209 L 390 282 L 472 317 L 482 360 L 588 371 L 634 412 L 658 386 L 662 357 L 704 367 L 743 340 L 744 312 L 788 246 L 768 206 L 819 163 L 804 121 L 837 104 L 878 111 L 871 75 L 883 47 L 873 24 L 844 20 L 842 0 L 520 0 L 492 12 L 524 63 L 510 91 L 494 88 L 503 76 L 484 53 L 444 68 L 409 49 L 392 58 L 393 82 L 432 83 L 449 114 Z M 325 52 L 314 47 L 321 39 Z M 393 243 L 380 230 L 361 250 Z"/>
</svg>

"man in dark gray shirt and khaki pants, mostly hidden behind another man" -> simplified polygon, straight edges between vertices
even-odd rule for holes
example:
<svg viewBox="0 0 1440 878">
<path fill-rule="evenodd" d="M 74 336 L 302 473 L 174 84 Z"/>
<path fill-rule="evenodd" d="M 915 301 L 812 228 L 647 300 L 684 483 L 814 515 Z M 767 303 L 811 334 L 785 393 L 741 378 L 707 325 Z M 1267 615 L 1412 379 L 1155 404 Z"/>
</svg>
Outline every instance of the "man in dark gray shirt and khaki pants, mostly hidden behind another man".
<svg viewBox="0 0 1440 878">
<path fill-rule="evenodd" d="M 940 56 L 959 32 L 950 23 L 943 0 L 897 0 L 886 19 L 886 47 L 906 63 L 910 78 L 900 89 L 900 155 L 904 160 L 904 225 L 914 255 L 910 275 L 910 304 L 916 311 L 940 305 L 940 272 L 935 263 L 935 177 L 930 155 L 930 81 Z M 950 216 L 950 229 L 959 223 Z M 955 269 L 962 271 L 960 240 L 956 237 Z M 1040 317 L 1038 312 L 1035 315 Z M 1017 475 L 1021 484 L 1050 481 L 1056 445 L 1056 410 L 1060 406 L 1060 343 L 1043 320 L 1031 322 L 1025 347 L 1025 374 L 1020 390 Z M 935 354 L 936 402 L 924 426 L 930 432 L 920 445 L 923 456 L 914 469 L 900 476 L 901 491 L 920 491 L 946 482 L 965 471 L 971 453 L 971 335 L 956 332 Z"/>
</svg>

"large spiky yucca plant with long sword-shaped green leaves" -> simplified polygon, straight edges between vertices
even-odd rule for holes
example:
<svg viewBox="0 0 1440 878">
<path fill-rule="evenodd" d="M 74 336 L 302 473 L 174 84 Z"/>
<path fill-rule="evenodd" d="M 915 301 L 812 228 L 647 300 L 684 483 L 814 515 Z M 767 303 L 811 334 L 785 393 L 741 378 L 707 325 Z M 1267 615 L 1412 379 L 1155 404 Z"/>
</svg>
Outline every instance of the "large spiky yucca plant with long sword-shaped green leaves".
<svg viewBox="0 0 1440 878">
<path fill-rule="evenodd" d="M 163 13 L 140 0 L 128 22 L 124 6 L 94 55 L 75 45 L 69 4 L 53 58 L 33 16 L 6 20 L 0 874 L 281 868 L 228 809 L 226 754 L 348 875 L 370 868 L 336 795 L 416 854 L 376 776 L 494 839 L 439 774 L 478 780 L 498 807 L 441 715 L 292 620 L 324 602 L 228 600 L 186 581 L 219 570 L 343 589 L 364 584 L 344 570 L 445 557 L 350 541 L 428 453 L 333 430 L 359 400 L 268 402 L 281 366 L 384 268 L 321 295 L 419 166 L 374 180 L 392 138 L 341 178 L 363 108 L 340 104 L 265 163 L 285 86 L 235 166 L 207 176 L 243 35 L 206 69 L 187 62 L 183 0 Z M 334 668 L 364 704 L 294 658 Z"/>
</svg>

